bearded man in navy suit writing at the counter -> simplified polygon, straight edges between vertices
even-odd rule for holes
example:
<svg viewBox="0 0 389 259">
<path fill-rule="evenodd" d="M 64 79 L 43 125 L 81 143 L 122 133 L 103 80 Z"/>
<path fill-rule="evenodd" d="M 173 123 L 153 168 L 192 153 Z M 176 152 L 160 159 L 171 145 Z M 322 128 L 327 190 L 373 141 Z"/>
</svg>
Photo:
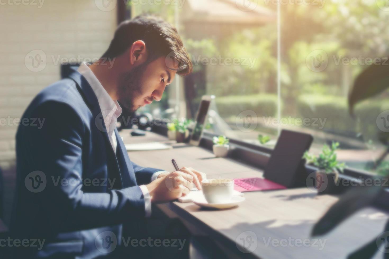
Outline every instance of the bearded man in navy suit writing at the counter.
<svg viewBox="0 0 389 259">
<path fill-rule="evenodd" d="M 175 28 L 137 17 L 118 26 L 98 62 L 81 64 L 35 97 L 23 118 L 43 125 L 18 129 L 11 231 L 36 246 L 15 249 L 16 258 L 107 256 L 121 243 L 123 222 L 137 224 L 151 203 L 201 188 L 205 176 L 197 170 L 131 162 L 116 130 L 117 101 L 130 111 L 159 101 L 176 73 L 191 70 Z"/>
</svg>

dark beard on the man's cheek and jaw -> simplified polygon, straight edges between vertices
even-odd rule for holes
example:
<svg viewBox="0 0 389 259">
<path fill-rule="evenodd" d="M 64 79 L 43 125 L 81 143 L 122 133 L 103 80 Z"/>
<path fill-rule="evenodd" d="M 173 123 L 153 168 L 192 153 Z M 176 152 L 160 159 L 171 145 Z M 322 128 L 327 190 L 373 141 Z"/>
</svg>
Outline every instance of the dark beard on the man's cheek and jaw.
<svg viewBox="0 0 389 259">
<path fill-rule="evenodd" d="M 142 95 L 141 79 L 147 64 L 140 64 L 131 71 L 124 72 L 119 77 L 119 103 L 130 112 L 136 111 L 140 106 L 134 104 L 135 99 Z"/>
</svg>

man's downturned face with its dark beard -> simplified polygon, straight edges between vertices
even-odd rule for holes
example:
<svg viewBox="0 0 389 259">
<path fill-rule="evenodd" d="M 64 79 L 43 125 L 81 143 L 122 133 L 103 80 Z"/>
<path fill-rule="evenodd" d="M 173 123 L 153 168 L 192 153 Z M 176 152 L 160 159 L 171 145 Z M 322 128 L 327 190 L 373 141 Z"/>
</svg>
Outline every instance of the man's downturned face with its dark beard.
<svg viewBox="0 0 389 259">
<path fill-rule="evenodd" d="M 173 81 L 175 73 L 166 65 L 165 57 L 135 66 L 120 75 L 119 102 L 127 110 L 135 111 L 154 100 L 161 100 L 166 85 Z"/>
</svg>

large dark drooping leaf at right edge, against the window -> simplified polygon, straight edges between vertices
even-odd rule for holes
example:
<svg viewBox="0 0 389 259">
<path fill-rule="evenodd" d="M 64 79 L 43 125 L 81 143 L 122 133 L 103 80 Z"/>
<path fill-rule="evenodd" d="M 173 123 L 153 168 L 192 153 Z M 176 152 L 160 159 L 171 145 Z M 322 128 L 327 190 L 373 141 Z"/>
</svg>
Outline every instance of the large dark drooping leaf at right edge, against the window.
<svg viewBox="0 0 389 259">
<path fill-rule="evenodd" d="M 389 88 L 389 66 L 387 64 L 371 64 L 357 76 L 349 93 L 350 114 L 354 114 L 355 104 L 375 96 L 387 88 Z"/>
</svg>

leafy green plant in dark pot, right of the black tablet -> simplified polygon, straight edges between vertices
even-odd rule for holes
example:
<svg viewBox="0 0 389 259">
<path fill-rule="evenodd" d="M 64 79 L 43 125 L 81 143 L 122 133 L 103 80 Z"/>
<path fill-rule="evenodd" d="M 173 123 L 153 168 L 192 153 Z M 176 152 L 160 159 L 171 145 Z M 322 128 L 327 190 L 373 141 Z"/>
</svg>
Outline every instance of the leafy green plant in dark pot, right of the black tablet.
<svg viewBox="0 0 389 259">
<path fill-rule="evenodd" d="M 337 160 L 336 149 L 338 147 L 338 142 L 333 142 L 331 146 L 325 144 L 319 156 L 310 155 L 308 151 L 303 156 L 308 164 L 319 168 L 315 176 L 315 188 L 318 194 L 336 193 L 339 173 L 342 173 L 345 168 L 345 164 Z"/>
</svg>

